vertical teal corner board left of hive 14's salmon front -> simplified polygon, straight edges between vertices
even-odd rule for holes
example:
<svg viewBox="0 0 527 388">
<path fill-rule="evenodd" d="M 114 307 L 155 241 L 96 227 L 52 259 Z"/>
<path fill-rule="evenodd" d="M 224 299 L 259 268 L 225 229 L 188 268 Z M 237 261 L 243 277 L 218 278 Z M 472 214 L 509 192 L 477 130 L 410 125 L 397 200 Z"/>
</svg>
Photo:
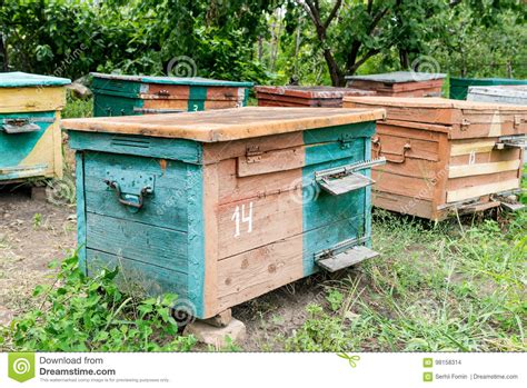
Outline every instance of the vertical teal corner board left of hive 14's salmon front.
<svg viewBox="0 0 527 388">
<path fill-rule="evenodd" d="M 196 307 L 196 316 L 203 317 L 205 304 L 205 215 L 203 168 L 187 165 L 188 203 L 188 298 Z"/>
</svg>

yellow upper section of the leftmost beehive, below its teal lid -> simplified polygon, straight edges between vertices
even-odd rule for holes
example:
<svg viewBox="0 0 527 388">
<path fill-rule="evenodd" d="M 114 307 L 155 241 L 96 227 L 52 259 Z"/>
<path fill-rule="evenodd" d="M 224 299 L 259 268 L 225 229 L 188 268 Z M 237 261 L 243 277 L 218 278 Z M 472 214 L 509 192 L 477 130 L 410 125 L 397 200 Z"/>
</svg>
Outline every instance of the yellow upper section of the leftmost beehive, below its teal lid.
<svg viewBox="0 0 527 388">
<path fill-rule="evenodd" d="M 0 113 L 56 111 L 64 105 L 63 87 L 0 88 Z"/>
</svg>

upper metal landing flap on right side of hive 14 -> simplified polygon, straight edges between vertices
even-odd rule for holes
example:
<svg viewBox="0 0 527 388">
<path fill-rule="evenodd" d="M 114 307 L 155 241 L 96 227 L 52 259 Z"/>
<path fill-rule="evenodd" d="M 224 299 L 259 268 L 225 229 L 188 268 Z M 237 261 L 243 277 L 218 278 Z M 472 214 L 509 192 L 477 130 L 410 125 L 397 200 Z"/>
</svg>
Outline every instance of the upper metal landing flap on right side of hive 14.
<svg viewBox="0 0 527 388">
<path fill-rule="evenodd" d="M 358 171 L 385 163 L 386 158 L 381 157 L 374 160 L 336 167 L 315 172 L 315 180 L 325 191 L 332 196 L 339 196 L 374 185 L 375 181 L 371 178 L 368 178 Z"/>
</svg>

